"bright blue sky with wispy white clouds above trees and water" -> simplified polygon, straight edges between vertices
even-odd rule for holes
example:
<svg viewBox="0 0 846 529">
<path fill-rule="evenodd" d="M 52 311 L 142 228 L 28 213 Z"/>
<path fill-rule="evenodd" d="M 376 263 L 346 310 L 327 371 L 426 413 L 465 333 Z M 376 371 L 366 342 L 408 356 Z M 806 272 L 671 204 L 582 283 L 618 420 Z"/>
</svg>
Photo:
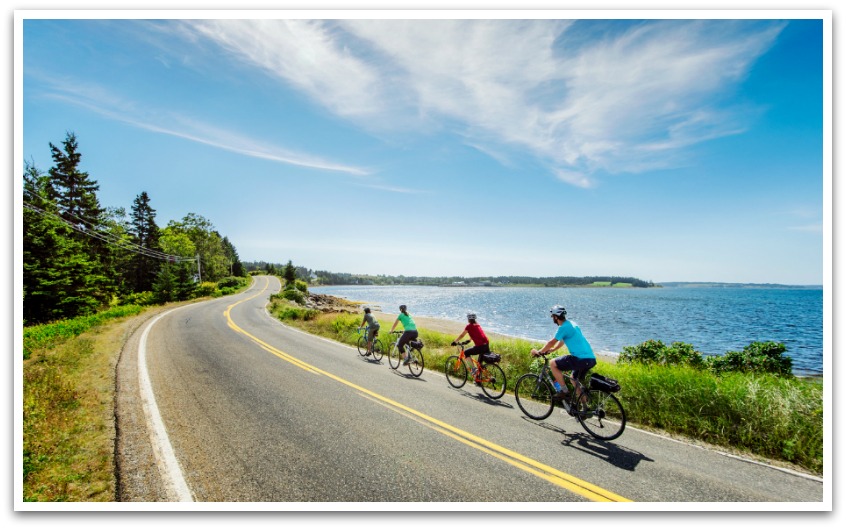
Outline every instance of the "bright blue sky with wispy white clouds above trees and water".
<svg viewBox="0 0 846 529">
<path fill-rule="evenodd" d="M 23 21 L 18 156 L 73 131 L 103 206 L 335 272 L 823 283 L 820 19 L 154 14 Z"/>
</svg>

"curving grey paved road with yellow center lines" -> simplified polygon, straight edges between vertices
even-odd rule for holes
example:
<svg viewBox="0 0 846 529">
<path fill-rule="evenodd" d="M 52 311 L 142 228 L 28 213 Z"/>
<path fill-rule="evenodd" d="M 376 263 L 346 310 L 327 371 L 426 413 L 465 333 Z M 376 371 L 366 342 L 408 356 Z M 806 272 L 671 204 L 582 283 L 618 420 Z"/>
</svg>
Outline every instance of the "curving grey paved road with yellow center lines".
<svg viewBox="0 0 846 529">
<path fill-rule="evenodd" d="M 151 318 L 127 343 L 124 501 L 180 499 L 156 463 L 167 450 L 150 448 L 142 341 L 177 474 L 196 501 L 823 501 L 816 479 L 635 429 L 597 441 L 557 411 L 535 422 L 509 394 L 455 390 L 441 366 L 420 378 L 392 371 L 275 321 L 265 304 L 279 287 L 258 277 L 243 294 Z"/>
</svg>

